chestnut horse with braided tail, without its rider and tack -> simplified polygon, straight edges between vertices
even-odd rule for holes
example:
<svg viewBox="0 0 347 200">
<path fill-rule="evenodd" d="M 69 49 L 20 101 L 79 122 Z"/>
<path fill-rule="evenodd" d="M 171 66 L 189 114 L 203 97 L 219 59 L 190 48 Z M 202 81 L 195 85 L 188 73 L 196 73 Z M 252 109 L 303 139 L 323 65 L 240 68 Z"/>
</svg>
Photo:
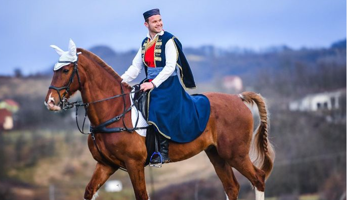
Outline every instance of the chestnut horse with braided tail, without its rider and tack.
<svg viewBox="0 0 347 200">
<path fill-rule="evenodd" d="M 94 102 L 110 96 L 129 93 L 131 86 L 121 83 L 121 77 L 103 60 L 82 48 L 77 48 L 78 76 L 74 76 L 67 92 L 67 98 L 77 90 L 81 92 L 84 103 Z M 74 64 L 71 63 L 54 71 L 52 86 L 63 87 L 69 84 Z M 65 89 L 60 90 L 63 95 Z M 205 151 L 222 181 L 227 199 L 237 199 L 239 184 L 232 167 L 249 179 L 255 187 L 256 199 L 264 199 L 265 180 L 271 173 L 274 151 L 268 141 L 268 117 L 264 99 L 254 92 L 241 94 L 204 93 L 210 100 L 211 114 L 205 131 L 195 140 L 188 143 L 170 141 L 169 153 L 171 162 L 178 162 Z M 49 110 L 61 109 L 61 98 L 54 89 L 49 89 L 45 105 Z M 130 106 L 129 95 L 125 96 L 126 108 Z M 253 137 L 253 115 L 244 104 L 256 103 L 259 109 L 260 125 Z M 97 126 L 118 114 L 124 109 L 123 98 L 114 98 L 88 108 L 88 118 Z M 126 113 L 124 122 L 132 128 L 131 114 Z M 122 120 L 108 126 L 124 127 Z M 187 133 L 189 134 L 189 133 Z M 148 194 L 144 180 L 144 163 L 147 158 L 145 137 L 135 131 L 117 133 L 97 133 L 95 141 L 102 152 L 95 147 L 91 135 L 88 136 L 88 147 L 92 157 L 97 161 L 94 173 L 86 186 L 84 198 L 94 199 L 97 190 L 119 169 L 127 169 L 133 185 L 136 200 L 147 200 Z M 251 144 L 254 148 L 251 149 Z M 253 151 L 252 151 L 253 150 Z M 255 163 L 253 164 L 252 161 Z"/>
</svg>

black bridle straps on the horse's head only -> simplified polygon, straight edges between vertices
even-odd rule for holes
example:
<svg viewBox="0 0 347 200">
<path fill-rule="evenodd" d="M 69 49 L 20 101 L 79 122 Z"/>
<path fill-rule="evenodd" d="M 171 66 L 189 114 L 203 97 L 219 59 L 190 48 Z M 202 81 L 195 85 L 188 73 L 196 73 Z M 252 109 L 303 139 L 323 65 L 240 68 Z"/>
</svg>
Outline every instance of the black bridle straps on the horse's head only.
<svg viewBox="0 0 347 200">
<path fill-rule="evenodd" d="M 80 88 L 80 89 L 82 88 L 81 80 L 80 80 L 79 75 L 78 75 L 77 62 L 78 62 L 78 54 L 77 54 L 77 60 L 74 61 L 74 62 L 72 62 L 72 61 L 58 61 L 58 63 L 71 63 L 71 64 L 74 65 L 74 69 L 73 69 L 72 74 L 71 74 L 71 76 L 70 76 L 69 82 L 68 82 L 68 84 L 67 84 L 66 86 L 63 86 L 63 87 L 56 87 L 56 86 L 54 86 L 54 85 L 51 85 L 51 86 L 48 87 L 48 89 L 54 89 L 54 90 L 56 90 L 56 91 L 58 92 L 58 96 L 59 96 L 60 102 L 62 103 L 61 108 L 62 108 L 63 110 L 65 110 L 65 111 L 68 110 L 68 109 L 70 109 L 70 104 L 69 104 L 69 102 L 68 102 L 68 99 L 67 99 L 65 96 L 66 96 L 66 94 L 68 94 L 69 91 L 70 91 L 70 86 L 71 86 L 71 83 L 72 83 L 72 81 L 73 81 L 73 79 L 74 79 L 74 77 L 75 77 L 75 74 L 77 74 L 77 79 L 78 79 L 78 83 L 79 83 L 79 88 Z M 65 92 L 64 92 L 63 95 L 61 96 L 61 95 L 60 95 L 60 91 L 63 90 L 63 89 L 65 89 Z M 72 107 L 71 107 L 71 108 L 72 108 Z"/>
</svg>

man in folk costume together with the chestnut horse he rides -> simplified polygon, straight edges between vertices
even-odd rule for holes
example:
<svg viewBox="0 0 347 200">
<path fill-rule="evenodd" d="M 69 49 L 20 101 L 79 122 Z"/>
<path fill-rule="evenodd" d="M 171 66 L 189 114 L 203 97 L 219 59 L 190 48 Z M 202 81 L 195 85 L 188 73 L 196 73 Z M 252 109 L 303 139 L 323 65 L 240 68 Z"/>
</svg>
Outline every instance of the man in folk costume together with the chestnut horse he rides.
<svg viewBox="0 0 347 200">
<path fill-rule="evenodd" d="M 141 88 L 150 90 L 146 120 L 163 136 L 160 143 L 164 160 L 179 162 L 205 151 L 227 199 L 236 200 L 238 196 L 235 168 L 251 181 L 256 199 L 264 200 L 265 180 L 272 171 L 275 154 L 268 139 L 270 122 L 263 97 L 254 92 L 188 95 L 184 88 L 194 88 L 195 83 L 181 43 L 162 31 L 159 10 L 144 13 L 144 18 L 148 36 L 122 77 L 93 53 L 77 48 L 71 39 L 67 52 L 52 45 L 60 58 L 44 104 L 51 111 L 76 108 L 76 113 L 84 107 L 91 124 L 87 143 L 97 163 L 84 199 L 95 199 L 98 189 L 118 169 L 127 170 L 136 200 L 149 199 L 144 176 L 145 138 L 136 126 L 131 126 L 132 112 L 128 111 L 132 111 L 133 104 L 125 98 L 133 88 L 121 83 L 133 80 L 144 68 L 147 79 Z M 76 91 L 80 91 L 82 102 L 69 102 Z M 253 114 L 246 104 L 258 107 L 260 123 L 255 134 Z M 170 144 L 170 159 L 166 138 L 175 141 Z"/>
</svg>

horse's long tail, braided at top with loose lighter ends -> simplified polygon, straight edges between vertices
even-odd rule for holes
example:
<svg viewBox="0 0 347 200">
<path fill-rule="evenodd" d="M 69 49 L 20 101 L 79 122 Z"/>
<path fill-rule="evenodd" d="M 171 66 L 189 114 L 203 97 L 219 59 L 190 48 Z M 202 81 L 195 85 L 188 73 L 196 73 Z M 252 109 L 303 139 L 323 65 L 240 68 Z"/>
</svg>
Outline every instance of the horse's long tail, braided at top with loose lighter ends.
<svg viewBox="0 0 347 200">
<path fill-rule="evenodd" d="M 266 180 L 273 168 L 275 152 L 270 140 L 268 139 L 268 127 L 270 126 L 270 121 L 268 119 L 265 101 L 260 94 L 254 92 L 242 92 L 241 94 L 238 94 L 238 96 L 242 101 L 249 103 L 250 105 L 256 103 L 258 107 L 260 124 L 256 130 L 256 134 L 253 136 L 250 157 L 254 165 L 265 172 Z"/>
</svg>

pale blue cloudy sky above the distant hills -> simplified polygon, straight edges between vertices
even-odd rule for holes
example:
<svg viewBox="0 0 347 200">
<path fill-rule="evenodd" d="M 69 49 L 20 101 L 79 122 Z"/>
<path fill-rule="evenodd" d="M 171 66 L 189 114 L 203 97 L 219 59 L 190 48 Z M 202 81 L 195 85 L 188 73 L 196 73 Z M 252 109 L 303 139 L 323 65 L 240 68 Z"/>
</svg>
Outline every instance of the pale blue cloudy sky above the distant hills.
<svg viewBox="0 0 347 200">
<path fill-rule="evenodd" d="M 67 51 L 69 38 L 86 49 L 138 49 L 142 13 L 154 8 L 183 47 L 316 48 L 346 37 L 345 0 L 0 0 L 0 75 L 46 71 L 59 59 L 49 45 Z"/>
</svg>

